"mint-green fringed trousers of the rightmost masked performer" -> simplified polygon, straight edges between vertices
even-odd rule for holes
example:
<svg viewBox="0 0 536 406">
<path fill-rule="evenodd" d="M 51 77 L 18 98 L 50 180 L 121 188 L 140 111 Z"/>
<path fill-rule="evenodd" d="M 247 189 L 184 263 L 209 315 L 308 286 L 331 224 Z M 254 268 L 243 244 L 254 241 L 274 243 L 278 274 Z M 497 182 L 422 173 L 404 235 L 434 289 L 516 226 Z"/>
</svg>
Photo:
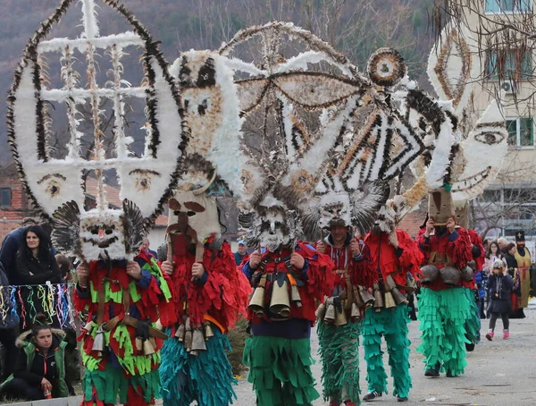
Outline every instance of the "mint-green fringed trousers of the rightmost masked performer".
<svg viewBox="0 0 536 406">
<path fill-rule="evenodd" d="M 467 365 L 465 320 L 472 312 L 464 289 L 433 291 L 423 287 L 418 303 L 423 340 L 417 351 L 425 357 L 425 369 L 434 369 L 439 363 L 441 372 L 463 374 Z"/>
</svg>

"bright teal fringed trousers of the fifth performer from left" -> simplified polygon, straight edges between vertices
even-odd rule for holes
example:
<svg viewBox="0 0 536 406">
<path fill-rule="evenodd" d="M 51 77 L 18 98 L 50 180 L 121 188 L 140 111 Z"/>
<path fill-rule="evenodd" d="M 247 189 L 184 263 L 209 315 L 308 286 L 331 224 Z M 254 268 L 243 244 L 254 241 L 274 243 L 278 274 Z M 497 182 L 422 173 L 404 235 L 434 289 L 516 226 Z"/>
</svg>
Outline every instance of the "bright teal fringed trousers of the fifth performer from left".
<svg viewBox="0 0 536 406">
<path fill-rule="evenodd" d="M 394 396 L 407 397 L 411 389 L 409 375 L 409 346 L 407 338 L 407 306 L 399 304 L 394 309 L 366 309 L 363 326 L 364 359 L 368 392 L 389 393 L 387 374 L 383 368 L 381 336 L 387 343 L 389 366 L 393 377 Z"/>
</svg>

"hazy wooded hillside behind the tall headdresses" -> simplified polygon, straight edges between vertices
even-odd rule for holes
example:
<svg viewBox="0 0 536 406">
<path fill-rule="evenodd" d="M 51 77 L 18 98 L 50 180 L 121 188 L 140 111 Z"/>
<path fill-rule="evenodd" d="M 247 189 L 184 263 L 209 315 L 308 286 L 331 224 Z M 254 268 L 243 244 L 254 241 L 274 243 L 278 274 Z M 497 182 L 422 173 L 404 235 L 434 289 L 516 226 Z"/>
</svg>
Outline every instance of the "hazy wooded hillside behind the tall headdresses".
<svg viewBox="0 0 536 406">
<path fill-rule="evenodd" d="M 6 95 L 13 80 L 13 70 L 19 63 L 22 51 L 39 23 L 54 12 L 60 0 L 2 0 L 0 13 L 0 92 Z M 76 38 L 80 36 L 80 3 L 73 2 L 63 21 L 54 27 L 51 36 Z M 103 2 L 96 0 L 101 35 L 130 30 Z M 426 66 L 427 55 L 433 43 L 433 30 L 429 29 L 428 15 L 432 0 L 123 0 L 123 4 L 138 17 L 154 38 L 162 41 L 163 54 L 172 62 L 180 52 L 189 49 L 216 49 L 240 29 L 268 21 L 293 21 L 297 26 L 311 30 L 329 41 L 363 71 L 368 56 L 379 47 L 395 47 L 406 58 L 410 74 L 419 79 Z M 141 52 L 141 51 L 139 51 Z M 101 80 L 106 80 L 107 58 L 102 56 Z M 123 63 L 138 63 L 140 54 L 131 52 Z M 61 87 L 59 56 L 47 55 L 50 87 Z M 79 55 L 81 83 L 84 83 L 84 57 Z M 136 72 L 130 77 L 125 69 L 125 80 L 138 84 Z M 3 97 L 4 98 L 4 97 Z M 110 106 L 103 106 L 110 110 Z M 63 106 L 52 106 L 61 115 Z M 133 110 L 138 111 L 136 108 Z M 5 103 L 0 105 L 5 117 Z M 113 122 L 112 117 L 105 123 Z M 0 124 L 0 142 L 6 146 L 5 120 Z M 56 123 L 57 124 L 57 123 Z M 134 137 L 144 125 L 143 114 L 129 115 Z M 81 127 L 83 130 L 83 126 Z M 67 131 L 58 129 L 56 131 Z M 109 132 L 109 129 L 103 129 Z M 140 132 L 139 132 L 140 133 Z M 55 134 L 57 148 L 64 148 L 61 134 Z M 143 150 L 138 142 L 137 153 Z M 7 148 L 0 150 L 0 159 L 10 159 Z"/>
</svg>

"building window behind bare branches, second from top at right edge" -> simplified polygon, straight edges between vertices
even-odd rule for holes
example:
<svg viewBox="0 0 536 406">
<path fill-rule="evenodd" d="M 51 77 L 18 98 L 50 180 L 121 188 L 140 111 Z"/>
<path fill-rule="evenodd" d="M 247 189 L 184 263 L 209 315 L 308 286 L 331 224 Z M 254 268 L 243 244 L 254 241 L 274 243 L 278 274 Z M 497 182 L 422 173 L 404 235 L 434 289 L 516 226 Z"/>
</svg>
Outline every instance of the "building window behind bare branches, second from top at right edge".
<svg viewBox="0 0 536 406">
<path fill-rule="evenodd" d="M 532 77 L 532 54 L 529 51 L 491 51 L 486 59 L 488 80 L 527 80 Z"/>
</svg>

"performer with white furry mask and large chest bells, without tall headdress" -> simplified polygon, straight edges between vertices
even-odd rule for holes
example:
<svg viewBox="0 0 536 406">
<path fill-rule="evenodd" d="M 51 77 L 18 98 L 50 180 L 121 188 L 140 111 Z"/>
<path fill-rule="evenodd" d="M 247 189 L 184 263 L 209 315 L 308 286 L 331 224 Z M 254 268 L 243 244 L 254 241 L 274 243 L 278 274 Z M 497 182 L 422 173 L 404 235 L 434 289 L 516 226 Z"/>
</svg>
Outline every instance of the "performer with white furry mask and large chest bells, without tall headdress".
<svg viewBox="0 0 536 406">
<path fill-rule="evenodd" d="M 311 326 L 316 300 L 331 295 L 330 258 L 297 241 L 297 213 L 267 197 L 257 206 L 256 241 L 264 247 L 242 267 L 255 292 L 251 337 L 244 349 L 259 406 L 309 405 L 318 398 L 311 373 Z"/>
</svg>

